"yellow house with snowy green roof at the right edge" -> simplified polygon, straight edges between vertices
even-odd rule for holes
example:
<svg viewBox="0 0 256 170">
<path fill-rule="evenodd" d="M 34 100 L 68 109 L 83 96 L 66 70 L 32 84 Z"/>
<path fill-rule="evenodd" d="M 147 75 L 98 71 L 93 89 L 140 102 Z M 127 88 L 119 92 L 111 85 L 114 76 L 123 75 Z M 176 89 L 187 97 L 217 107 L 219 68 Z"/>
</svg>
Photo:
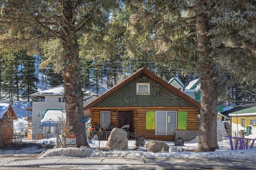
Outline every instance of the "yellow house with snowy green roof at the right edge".
<svg viewBox="0 0 256 170">
<path fill-rule="evenodd" d="M 231 123 L 240 124 L 243 127 L 247 127 L 249 125 L 256 127 L 256 106 L 234 111 L 228 115 L 230 116 Z"/>
</svg>

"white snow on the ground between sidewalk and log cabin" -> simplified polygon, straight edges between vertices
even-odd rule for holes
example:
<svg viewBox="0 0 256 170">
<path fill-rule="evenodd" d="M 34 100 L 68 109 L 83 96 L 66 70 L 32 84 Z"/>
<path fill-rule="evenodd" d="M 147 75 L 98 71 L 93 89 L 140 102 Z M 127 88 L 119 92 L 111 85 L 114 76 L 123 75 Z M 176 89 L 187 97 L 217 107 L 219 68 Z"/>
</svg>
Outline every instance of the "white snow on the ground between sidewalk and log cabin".
<svg viewBox="0 0 256 170">
<path fill-rule="evenodd" d="M 218 121 L 218 127 L 222 127 L 223 123 Z M 224 126 L 224 125 L 223 125 Z M 233 129 L 237 128 L 236 124 L 232 124 Z M 240 129 L 244 129 L 239 126 Z M 256 137 L 256 127 L 252 127 L 252 135 L 247 136 L 247 138 L 255 139 Z M 197 142 L 194 139 L 193 142 L 184 143 L 187 148 L 190 148 L 189 144 Z M 54 140 L 54 139 L 52 139 Z M 145 158 L 145 159 L 247 159 L 254 160 L 256 148 L 244 149 L 244 150 L 230 150 L 230 149 L 217 149 L 215 152 L 191 152 L 188 150 L 176 150 L 177 152 L 147 152 L 145 147 L 140 147 L 138 150 L 100 150 L 93 149 L 97 148 L 98 141 L 88 140 L 91 148 L 58 148 L 58 149 L 48 149 L 43 152 L 38 158 L 49 158 L 49 157 L 78 157 L 78 158 Z M 101 141 L 102 142 L 102 141 Z M 219 145 L 225 145 L 229 143 L 229 140 L 223 140 L 218 142 Z M 173 143 L 167 143 L 170 147 L 173 147 Z M 196 143 L 197 144 L 197 143 Z"/>
</svg>

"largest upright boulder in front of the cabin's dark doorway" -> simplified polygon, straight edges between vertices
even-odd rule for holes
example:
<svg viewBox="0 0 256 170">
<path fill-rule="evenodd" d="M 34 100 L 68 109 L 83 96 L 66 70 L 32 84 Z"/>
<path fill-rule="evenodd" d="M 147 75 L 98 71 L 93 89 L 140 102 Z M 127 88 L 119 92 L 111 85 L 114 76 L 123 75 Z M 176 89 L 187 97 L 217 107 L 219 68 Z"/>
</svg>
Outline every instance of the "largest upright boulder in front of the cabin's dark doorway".
<svg viewBox="0 0 256 170">
<path fill-rule="evenodd" d="M 128 148 L 127 132 L 115 127 L 108 137 L 106 148 L 126 150 Z"/>
</svg>

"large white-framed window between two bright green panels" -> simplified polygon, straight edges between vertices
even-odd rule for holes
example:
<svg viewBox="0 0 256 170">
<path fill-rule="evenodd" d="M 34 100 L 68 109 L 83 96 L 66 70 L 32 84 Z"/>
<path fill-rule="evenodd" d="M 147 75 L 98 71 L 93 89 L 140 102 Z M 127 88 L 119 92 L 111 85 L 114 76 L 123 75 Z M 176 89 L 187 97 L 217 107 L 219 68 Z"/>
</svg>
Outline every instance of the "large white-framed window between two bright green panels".
<svg viewBox="0 0 256 170">
<path fill-rule="evenodd" d="M 176 111 L 156 111 L 156 135 L 175 135 Z"/>
</svg>

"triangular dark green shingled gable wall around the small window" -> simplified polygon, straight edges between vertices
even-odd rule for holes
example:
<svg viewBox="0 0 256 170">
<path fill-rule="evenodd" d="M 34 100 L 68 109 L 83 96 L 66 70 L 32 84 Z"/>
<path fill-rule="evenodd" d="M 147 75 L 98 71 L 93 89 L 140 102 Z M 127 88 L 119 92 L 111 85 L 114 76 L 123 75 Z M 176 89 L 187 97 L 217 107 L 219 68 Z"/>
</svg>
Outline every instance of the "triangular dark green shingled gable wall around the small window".
<svg viewBox="0 0 256 170">
<path fill-rule="evenodd" d="M 150 83 L 150 95 L 137 95 L 136 83 Z M 122 88 L 108 95 L 94 107 L 177 107 L 194 106 L 146 74 L 140 74 Z"/>
</svg>

